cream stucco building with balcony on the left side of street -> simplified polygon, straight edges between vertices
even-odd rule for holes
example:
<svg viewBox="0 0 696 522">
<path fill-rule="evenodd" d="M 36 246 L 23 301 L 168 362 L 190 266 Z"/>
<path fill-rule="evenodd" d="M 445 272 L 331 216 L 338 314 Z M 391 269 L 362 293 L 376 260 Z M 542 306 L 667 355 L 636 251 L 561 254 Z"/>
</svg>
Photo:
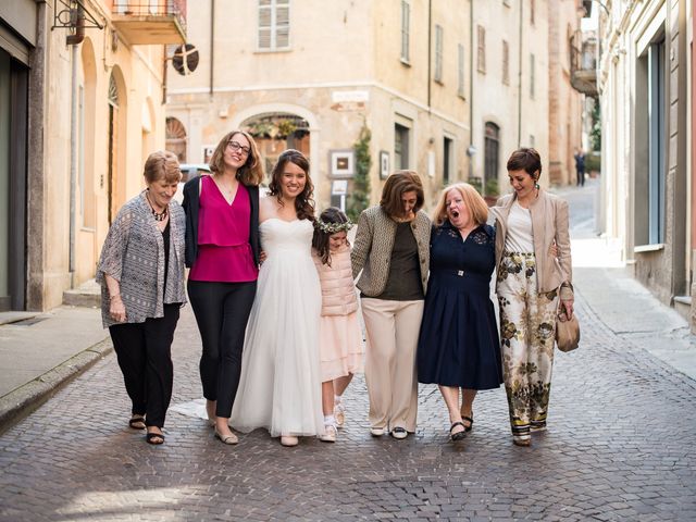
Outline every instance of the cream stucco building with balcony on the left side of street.
<svg viewBox="0 0 696 522">
<path fill-rule="evenodd" d="M 182 16 L 178 1 L 0 4 L 0 103 L 14 108 L 0 133 L 3 309 L 55 307 L 94 277 L 144 159 L 164 147 L 164 44 L 185 40 Z"/>
</svg>

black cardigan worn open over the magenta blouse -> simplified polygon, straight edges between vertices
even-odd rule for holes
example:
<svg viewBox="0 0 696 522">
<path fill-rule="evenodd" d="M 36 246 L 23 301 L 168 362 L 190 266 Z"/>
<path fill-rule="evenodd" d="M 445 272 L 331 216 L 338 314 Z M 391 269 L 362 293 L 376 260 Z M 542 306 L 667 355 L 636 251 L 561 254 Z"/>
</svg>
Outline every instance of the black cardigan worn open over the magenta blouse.
<svg viewBox="0 0 696 522">
<path fill-rule="evenodd" d="M 204 174 L 207 175 L 207 174 Z M 186 212 L 186 266 L 192 266 L 198 257 L 198 211 L 200 208 L 201 176 L 196 176 L 184 185 L 184 211 Z M 249 245 L 253 254 L 253 262 L 259 265 L 259 187 L 245 185 L 249 191 L 251 212 L 249 215 Z"/>
</svg>

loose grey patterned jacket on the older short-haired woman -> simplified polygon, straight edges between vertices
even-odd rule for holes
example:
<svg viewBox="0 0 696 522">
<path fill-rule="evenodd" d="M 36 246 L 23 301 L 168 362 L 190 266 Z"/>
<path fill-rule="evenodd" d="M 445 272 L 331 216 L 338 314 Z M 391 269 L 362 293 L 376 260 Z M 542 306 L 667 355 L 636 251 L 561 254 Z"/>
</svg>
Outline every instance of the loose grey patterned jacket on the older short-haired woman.
<svg viewBox="0 0 696 522">
<path fill-rule="evenodd" d="M 145 190 L 127 201 L 109 228 L 97 265 L 101 284 L 101 320 L 104 328 L 116 323 L 109 314 L 109 289 L 104 274 L 120 283 L 126 323 L 162 318 L 164 303 L 186 302 L 184 289 L 184 235 L 186 215 L 170 203 L 170 262 L 164 286 L 164 239 L 152 219 Z M 164 290 L 164 291 L 162 291 Z M 162 299 L 164 296 L 164 299 Z"/>
</svg>

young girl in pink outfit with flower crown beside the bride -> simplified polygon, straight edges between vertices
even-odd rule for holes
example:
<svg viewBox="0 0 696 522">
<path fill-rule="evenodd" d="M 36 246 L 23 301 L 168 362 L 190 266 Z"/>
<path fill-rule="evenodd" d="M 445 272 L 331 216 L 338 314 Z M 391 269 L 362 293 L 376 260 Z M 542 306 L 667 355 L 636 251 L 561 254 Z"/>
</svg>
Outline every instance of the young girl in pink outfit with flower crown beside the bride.
<svg viewBox="0 0 696 522">
<path fill-rule="evenodd" d="M 353 374 L 362 372 L 364 355 L 347 238 L 351 226 L 346 214 L 331 207 L 314 224 L 312 238 L 312 257 L 322 287 L 319 346 L 324 435 L 320 438 L 326 443 L 336 442 L 336 427 L 343 427 L 341 395 Z"/>
</svg>

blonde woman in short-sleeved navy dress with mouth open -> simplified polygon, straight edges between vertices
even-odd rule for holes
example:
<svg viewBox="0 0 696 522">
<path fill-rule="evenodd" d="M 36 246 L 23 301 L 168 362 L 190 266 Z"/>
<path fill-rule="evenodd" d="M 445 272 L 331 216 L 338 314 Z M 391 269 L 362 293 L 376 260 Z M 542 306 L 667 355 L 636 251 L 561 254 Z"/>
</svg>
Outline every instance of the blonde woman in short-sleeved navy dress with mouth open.
<svg viewBox="0 0 696 522">
<path fill-rule="evenodd" d="M 472 428 L 476 391 L 502 383 L 489 297 L 495 229 L 486 225 L 485 201 L 467 183 L 445 188 L 433 217 L 418 380 L 439 385 L 449 411 L 450 438 L 460 440 Z"/>
</svg>

